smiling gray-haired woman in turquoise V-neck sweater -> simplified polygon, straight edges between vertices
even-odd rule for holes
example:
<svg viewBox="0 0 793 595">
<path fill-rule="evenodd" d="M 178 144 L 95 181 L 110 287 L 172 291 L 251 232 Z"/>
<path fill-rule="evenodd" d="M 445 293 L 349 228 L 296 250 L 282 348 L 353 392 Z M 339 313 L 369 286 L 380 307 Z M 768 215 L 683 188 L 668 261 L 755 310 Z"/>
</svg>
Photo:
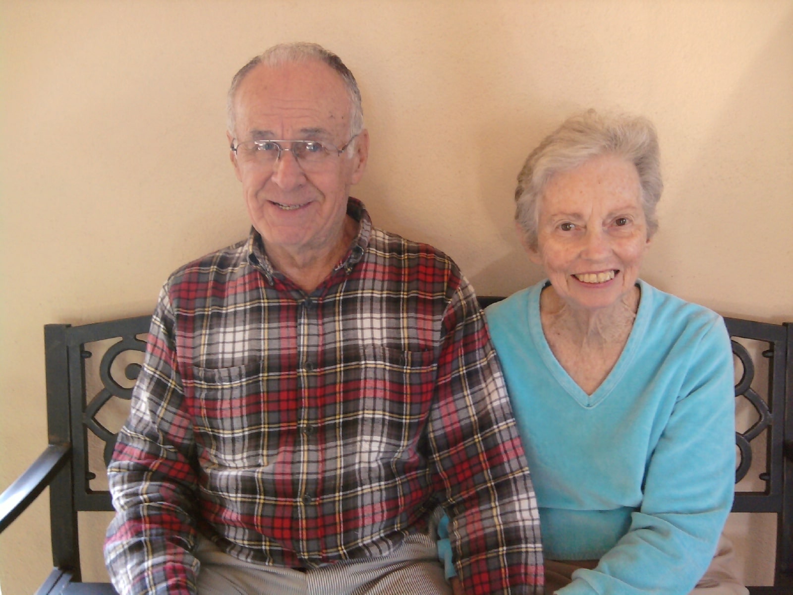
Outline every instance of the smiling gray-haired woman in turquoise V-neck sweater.
<svg viewBox="0 0 793 595">
<path fill-rule="evenodd" d="M 662 186 L 649 121 L 593 110 L 518 177 L 517 228 L 547 279 L 487 319 L 537 493 L 546 593 L 746 592 L 719 540 L 735 465 L 724 322 L 638 278 Z"/>
</svg>

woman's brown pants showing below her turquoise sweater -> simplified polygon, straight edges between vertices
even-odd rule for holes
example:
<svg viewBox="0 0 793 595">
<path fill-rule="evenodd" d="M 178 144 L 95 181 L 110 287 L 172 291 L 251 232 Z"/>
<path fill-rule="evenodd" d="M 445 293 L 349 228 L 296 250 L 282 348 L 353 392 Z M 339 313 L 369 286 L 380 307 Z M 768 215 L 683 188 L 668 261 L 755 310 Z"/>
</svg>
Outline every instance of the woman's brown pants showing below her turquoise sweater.
<svg viewBox="0 0 793 595">
<path fill-rule="evenodd" d="M 699 579 L 689 595 L 748 595 L 749 590 L 735 578 L 732 570 L 733 544 L 725 536 L 718 539 L 716 554 L 707 567 L 703 578 Z M 555 593 L 573 580 L 572 574 L 579 568 L 592 569 L 597 560 L 577 560 L 557 562 L 545 561 L 546 593 Z"/>
</svg>

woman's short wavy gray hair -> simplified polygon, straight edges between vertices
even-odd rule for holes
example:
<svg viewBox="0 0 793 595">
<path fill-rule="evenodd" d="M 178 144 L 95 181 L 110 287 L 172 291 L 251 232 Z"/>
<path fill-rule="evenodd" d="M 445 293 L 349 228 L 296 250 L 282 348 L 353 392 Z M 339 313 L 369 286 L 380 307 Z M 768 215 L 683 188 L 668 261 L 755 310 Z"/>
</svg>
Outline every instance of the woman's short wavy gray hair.
<svg viewBox="0 0 793 595">
<path fill-rule="evenodd" d="M 515 189 L 515 221 L 527 244 L 536 249 L 539 202 L 551 178 L 572 171 L 589 159 L 616 155 L 634 164 L 642 186 L 641 202 L 647 237 L 658 229 L 656 206 L 664 190 L 655 127 L 646 117 L 601 115 L 594 109 L 569 117 L 526 159 Z"/>
</svg>

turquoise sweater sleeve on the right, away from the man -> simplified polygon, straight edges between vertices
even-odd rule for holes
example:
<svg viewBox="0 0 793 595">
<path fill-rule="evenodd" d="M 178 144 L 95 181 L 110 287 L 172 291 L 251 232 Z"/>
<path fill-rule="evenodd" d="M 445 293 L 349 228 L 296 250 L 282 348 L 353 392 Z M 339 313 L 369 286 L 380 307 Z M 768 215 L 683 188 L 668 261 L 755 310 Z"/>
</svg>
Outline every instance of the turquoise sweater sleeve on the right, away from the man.
<svg viewBox="0 0 793 595">
<path fill-rule="evenodd" d="M 721 318 L 689 355 L 629 531 L 594 570 L 574 572 L 559 595 L 686 595 L 707 570 L 730 512 L 735 476 L 734 371 Z"/>
</svg>

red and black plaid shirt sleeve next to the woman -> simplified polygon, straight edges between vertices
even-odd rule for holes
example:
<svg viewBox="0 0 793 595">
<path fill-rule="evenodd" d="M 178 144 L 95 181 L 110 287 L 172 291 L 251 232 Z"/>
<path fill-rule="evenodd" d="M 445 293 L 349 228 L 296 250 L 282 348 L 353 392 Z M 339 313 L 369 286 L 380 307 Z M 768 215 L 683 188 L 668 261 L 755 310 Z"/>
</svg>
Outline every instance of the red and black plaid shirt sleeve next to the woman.
<svg viewBox="0 0 793 595">
<path fill-rule="evenodd" d="M 534 490 L 485 317 L 465 278 L 444 330 L 428 436 L 455 568 L 471 595 L 541 593 Z"/>
</svg>

